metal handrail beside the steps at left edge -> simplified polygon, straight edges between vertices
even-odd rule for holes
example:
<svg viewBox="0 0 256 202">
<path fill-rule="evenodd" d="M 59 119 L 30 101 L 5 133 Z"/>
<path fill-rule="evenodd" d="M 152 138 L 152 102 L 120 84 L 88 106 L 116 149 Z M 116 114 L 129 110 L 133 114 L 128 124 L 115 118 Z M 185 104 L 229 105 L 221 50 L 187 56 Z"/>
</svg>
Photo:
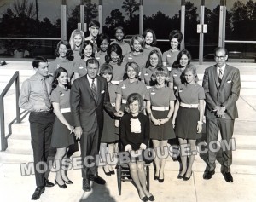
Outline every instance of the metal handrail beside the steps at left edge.
<svg viewBox="0 0 256 202">
<path fill-rule="evenodd" d="M 9 83 L 3 89 L 3 92 L 0 95 L 0 129 L 1 129 L 1 151 L 5 151 L 8 147 L 7 138 L 5 136 L 4 129 L 4 105 L 3 98 L 6 93 L 9 91 L 12 84 L 15 82 L 15 94 L 16 94 L 16 121 L 20 123 L 20 107 L 19 107 L 19 96 L 20 96 L 20 74 L 19 71 L 16 71 L 13 77 L 9 80 Z"/>
</svg>

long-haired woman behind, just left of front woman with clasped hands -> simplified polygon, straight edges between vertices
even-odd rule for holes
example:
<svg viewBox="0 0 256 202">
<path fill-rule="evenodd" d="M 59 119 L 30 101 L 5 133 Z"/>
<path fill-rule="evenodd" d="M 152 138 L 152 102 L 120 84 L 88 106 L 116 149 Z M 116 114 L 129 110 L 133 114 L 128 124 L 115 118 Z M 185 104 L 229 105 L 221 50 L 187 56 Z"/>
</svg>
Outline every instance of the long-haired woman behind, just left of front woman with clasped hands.
<svg viewBox="0 0 256 202">
<path fill-rule="evenodd" d="M 153 49 L 148 55 L 148 61 L 146 62 L 146 66 L 143 67 L 140 78 L 141 81 L 147 85 L 149 89 L 150 86 L 154 86 L 154 82 L 151 77 L 155 72 L 157 66 L 162 65 L 162 59 L 160 52 L 157 49 Z"/>
</svg>

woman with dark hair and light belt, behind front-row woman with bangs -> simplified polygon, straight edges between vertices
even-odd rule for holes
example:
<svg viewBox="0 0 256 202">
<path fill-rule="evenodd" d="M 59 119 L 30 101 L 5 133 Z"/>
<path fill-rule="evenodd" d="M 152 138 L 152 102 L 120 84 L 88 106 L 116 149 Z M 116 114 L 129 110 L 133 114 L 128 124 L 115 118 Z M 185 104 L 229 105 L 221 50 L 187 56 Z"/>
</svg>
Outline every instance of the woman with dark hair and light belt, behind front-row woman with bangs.
<svg viewBox="0 0 256 202">
<path fill-rule="evenodd" d="M 113 43 L 109 46 L 106 55 L 106 63 L 113 67 L 113 78 L 111 83 L 118 85 L 123 80 L 125 73 L 125 62 L 123 61 L 122 49 L 119 44 Z"/>
</svg>

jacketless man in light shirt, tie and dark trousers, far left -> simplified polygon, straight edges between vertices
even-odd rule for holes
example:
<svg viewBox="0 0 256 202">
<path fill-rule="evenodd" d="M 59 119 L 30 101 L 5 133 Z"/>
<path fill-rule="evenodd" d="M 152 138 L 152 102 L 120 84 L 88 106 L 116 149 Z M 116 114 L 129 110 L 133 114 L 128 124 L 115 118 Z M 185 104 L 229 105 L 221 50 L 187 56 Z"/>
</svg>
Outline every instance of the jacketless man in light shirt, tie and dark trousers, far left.
<svg viewBox="0 0 256 202">
<path fill-rule="evenodd" d="M 32 61 L 32 66 L 36 73 L 22 84 L 19 106 L 30 112 L 31 144 L 37 184 L 32 200 L 37 200 L 44 193 L 45 187 L 54 186 L 48 180 L 49 173 L 44 175 L 42 170 L 44 170 L 43 164 L 47 162 L 49 155 L 55 113 L 52 111 L 49 100 L 52 78 L 49 77 L 48 61 L 44 57 L 38 56 Z"/>
</svg>

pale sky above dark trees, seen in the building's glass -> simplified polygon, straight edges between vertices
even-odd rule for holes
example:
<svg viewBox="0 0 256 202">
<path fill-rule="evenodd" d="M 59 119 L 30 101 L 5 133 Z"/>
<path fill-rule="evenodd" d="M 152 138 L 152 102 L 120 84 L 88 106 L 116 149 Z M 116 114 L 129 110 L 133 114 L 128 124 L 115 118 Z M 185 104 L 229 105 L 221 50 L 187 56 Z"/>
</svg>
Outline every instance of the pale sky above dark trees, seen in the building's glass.
<svg viewBox="0 0 256 202">
<path fill-rule="evenodd" d="M 12 4 L 16 0 L 0 0 L 0 16 L 3 12 L 8 8 L 12 7 Z M 35 2 L 35 0 L 29 0 L 31 2 Z M 227 1 L 227 9 L 229 10 L 236 0 L 226 0 Z M 243 3 L 247 3 L 248 0 L 241 0 Z M 92 3 L 98 4 L 98 0 L 92 0 Z M 139 0 L 137 0 L 139 2 Z M 157 11 L 161 11 L 162 13 L 169 15 L 171 18 L 174 14 L 177 14 L 180 9 L 181 0 L 144 0 L 144 14 L 146 16 L 151 16 L 152 14 L 156 14 Z M 189 2 L 194 3 L 196 7 L 198 7 L 198 13 L 200 12 L 200 3 L 201 0 L 190 0 Z M 220 2 L 219 0 L 205 0 L 206 7 L 208 9 L 214 9 Z M 255 2 L 255 0 L 253 0 Z M 67 8 L 73 9 L 75 5 L 79 5 L 80 0 L 67 0 Z M 1 5 L 4 6 L 1 8 Z M 55 22 L 56 19 L 60 18 L 61 0 L 38 0 L 38 8 L 39 8 L 39 19 L 43 20 L 44 17 L 48 17 L 52 22 Z M 123 11 L 121 8 L 123 4 L 123 0 L 103 0 L 103 21 L 106 19 L 108 15 L 110 15 L 111 10 L 119 9 Z M 125 16 L 125 14 L 124 14 Z M 127 16 L 126 16 L 127 17 Z"/>
</svg>

